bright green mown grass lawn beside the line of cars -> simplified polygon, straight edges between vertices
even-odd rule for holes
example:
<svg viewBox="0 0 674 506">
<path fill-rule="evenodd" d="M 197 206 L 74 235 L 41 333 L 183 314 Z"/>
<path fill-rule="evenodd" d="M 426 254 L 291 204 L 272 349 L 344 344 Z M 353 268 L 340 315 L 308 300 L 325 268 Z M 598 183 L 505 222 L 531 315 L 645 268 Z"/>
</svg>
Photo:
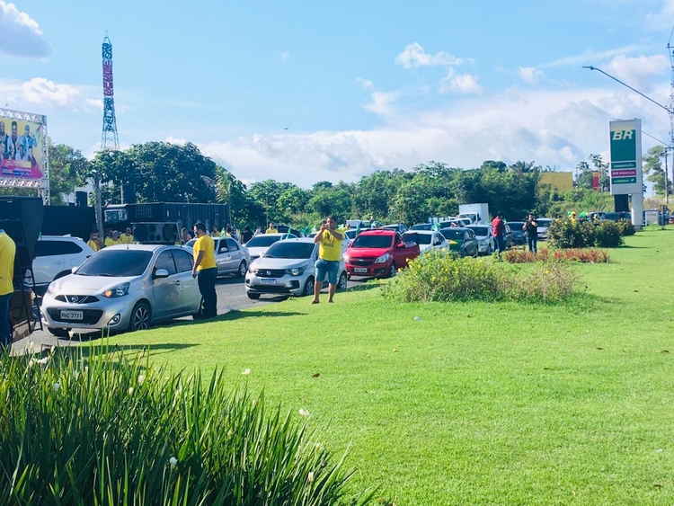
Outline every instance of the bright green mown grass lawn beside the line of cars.
<svg viewBox="0 0 674 506">
<path fill-rule="evenodd" d="M 672 504 L 674 229 L 611 257 L 575 267 L 587 289 L 561 306 L 392 304 L 373 286 L 111 342 L 308 411 L 326 448 L 350 445 L 355 485 L 398 505 Z"/>
</svg>

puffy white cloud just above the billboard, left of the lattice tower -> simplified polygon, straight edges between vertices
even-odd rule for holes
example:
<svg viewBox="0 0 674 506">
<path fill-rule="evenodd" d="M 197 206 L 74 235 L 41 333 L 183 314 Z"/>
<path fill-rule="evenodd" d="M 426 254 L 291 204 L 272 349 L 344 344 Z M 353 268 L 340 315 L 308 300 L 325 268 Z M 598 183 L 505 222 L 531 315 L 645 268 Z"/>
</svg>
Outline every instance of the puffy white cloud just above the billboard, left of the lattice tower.
<svg viewBox="0 0 674 506">
<path fill-rule="evenodd" d="M 26 82 L 0 79 L 0 103 L 7 103 L 13 109 L 39 105 L 71 111 L 101 111 L 102 100 L 98 98 L 101 94 L 102 90 L 94 86 L 59 84 L 44 77 L 33 77 Z"/>
</svg>

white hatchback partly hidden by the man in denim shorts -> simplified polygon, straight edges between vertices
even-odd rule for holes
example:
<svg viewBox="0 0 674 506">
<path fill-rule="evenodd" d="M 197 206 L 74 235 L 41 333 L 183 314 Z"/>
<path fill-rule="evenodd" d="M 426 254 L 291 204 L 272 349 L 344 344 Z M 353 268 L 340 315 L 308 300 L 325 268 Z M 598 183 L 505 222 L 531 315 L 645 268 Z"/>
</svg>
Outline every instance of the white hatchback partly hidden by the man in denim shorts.
<svg viewBox="0 0 674 506">
<path fill-rule="evenodd" d="M 318 244 L 308 237 L 271 244 L 267 253 L 248 268 L 245 275 L 246 295 L 252 299 L 258 299 L 262 294 L 314 295 L 317 258 Z M 342 260 L 337 274 L 337 289 L 346 289 L 347 277 Z"/>
</svg>

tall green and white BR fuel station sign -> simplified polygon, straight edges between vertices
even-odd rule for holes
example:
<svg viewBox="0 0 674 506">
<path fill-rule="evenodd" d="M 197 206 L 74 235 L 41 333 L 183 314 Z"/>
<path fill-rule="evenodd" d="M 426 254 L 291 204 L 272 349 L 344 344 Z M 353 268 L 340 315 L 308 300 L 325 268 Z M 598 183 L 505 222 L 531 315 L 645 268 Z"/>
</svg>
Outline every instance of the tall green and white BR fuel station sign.
<svg viewBox="0 0 674 506">
<path fill-rule="evenodd" d="M 642 120 L 610 121 L 608 130 L 611 195 L 642 195 Z"/>
</svg>

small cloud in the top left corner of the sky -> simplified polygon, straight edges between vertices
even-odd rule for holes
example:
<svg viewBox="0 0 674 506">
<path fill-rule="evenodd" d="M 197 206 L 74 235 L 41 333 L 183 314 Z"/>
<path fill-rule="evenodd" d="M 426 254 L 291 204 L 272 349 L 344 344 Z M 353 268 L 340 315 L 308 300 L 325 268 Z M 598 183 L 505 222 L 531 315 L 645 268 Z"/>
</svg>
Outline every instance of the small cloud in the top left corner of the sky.
<svg viewBox="0 0 674 506">
<path fill-rule="evenodd" d="M 49 56 L 49 44 L 42 36 L 40 25 L 14 4 L 0 0 L 0 53 L 14 57 L 44 58 Z"/>
</svg>

